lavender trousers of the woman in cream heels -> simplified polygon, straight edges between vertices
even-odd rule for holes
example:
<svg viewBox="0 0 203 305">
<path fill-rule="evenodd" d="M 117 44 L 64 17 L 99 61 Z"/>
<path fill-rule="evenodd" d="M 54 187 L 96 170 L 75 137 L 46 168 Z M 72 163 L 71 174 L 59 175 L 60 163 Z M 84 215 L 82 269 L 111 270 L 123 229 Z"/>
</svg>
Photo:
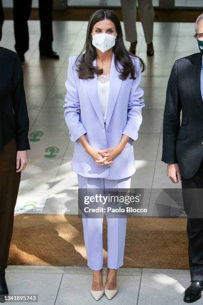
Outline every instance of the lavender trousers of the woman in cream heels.
<svg viewBox="0 0 203 305">
<path fill-rule="evenodd" d="M 130 188 L 131 177 L 111 180 L 90 178 L 78 174 L 79 188 Z M 83 217 L 83 231 L 88 266 L 92 270 L 103 267 L 102 224 L 103 218 Z M 107 219 L 107 267 L 118 269 L 123 265 L 127 218 Z"/>
</svg>

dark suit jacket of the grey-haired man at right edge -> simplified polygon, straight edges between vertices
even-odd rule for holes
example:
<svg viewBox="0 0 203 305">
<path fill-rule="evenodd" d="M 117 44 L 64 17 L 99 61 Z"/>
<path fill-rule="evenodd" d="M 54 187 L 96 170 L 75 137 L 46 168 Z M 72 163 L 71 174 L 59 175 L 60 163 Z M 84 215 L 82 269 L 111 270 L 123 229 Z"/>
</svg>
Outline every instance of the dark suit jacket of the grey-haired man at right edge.
<svg viewBox="0 0 203 305">
<path fill-rule="evenodd" d="M 197 172 L 203 158 L 201 68 L 201 53 L 176 60 L 167 86 L 162 161 L 178 163 L 184 178 Z"/>
</svg>

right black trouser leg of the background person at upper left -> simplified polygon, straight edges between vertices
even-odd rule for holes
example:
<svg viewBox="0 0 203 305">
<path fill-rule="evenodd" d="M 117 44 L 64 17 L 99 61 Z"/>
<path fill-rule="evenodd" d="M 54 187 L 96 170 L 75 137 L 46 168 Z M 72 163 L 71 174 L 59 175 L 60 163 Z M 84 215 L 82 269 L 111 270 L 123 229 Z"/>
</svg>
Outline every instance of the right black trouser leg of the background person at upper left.
<svg viewBox="0 0 203 305">
<path fill-rule="evenodd" d="M 52 12 L 53 0 L 39 0 L 39 19 L 41 28 L 41 37 L 39 41 L 40 51 L 52 51 Z"/>
</svg>

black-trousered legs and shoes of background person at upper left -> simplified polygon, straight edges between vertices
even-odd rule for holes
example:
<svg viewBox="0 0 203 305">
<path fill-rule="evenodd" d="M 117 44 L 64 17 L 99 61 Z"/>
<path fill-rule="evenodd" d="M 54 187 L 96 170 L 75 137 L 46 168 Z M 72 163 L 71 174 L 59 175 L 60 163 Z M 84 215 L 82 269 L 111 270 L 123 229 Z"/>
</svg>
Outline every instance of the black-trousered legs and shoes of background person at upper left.
<svg viewBox="0 0 203 305">
<path fill-rule="evenodd" d="M 32 0 L 13 0 L 15 50 L 21 62 L 25 60 L 24 53 L 29 49 L 27 20 L 30 16 L 31 4 Z M 52 50 L 52 11 L 53 0 L 39 0 L 39 19 L 41 28 L 39 52 L 41 57 L 59 59 L 59 55 Z"/>
</svg>

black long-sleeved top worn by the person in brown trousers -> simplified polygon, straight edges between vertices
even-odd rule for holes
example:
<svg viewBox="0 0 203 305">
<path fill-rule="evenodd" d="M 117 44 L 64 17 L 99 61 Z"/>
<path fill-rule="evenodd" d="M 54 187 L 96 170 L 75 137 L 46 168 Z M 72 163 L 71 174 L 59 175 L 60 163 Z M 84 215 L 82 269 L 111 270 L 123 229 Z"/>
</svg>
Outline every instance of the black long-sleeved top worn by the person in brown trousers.
<svg viewBox="0 0 203 305">
<path fill-rule="evenodd" d="M 17 54 L 0 47 L 0 151 L 16 139 L 17 151 L 30 150 L 23 71 Z"/>
</svg>

